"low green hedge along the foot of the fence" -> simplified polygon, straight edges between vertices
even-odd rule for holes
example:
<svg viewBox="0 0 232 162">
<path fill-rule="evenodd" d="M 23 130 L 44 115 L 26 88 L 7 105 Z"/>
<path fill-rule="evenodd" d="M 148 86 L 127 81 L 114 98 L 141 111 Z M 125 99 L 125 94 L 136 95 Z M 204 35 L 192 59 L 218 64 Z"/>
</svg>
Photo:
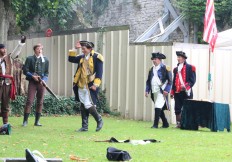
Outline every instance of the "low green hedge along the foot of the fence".
<svg viewBox="0 0 232 162">
<path fill-rule="evenodd" d="M 107 102 L 105 91 L 99 91 L 99 101 L 97 102 L 97 109 L 100 113 L 118 115 L 110 111 L 109 104 Z M 76 115 L 80 113 L 80 103 L 76 102 L 74 97 L 59 96 L 59 101 L 51 95 L 45 95 L 43 105 L 43 115 Z M 16 100 L 10 104 L 11 115 L 21 116 L 24 112 L 26 103 L 26 96 L 17 96 Z M 36 102 L 34 101 L 31 114 L 35 113 Z"/>
</svg>

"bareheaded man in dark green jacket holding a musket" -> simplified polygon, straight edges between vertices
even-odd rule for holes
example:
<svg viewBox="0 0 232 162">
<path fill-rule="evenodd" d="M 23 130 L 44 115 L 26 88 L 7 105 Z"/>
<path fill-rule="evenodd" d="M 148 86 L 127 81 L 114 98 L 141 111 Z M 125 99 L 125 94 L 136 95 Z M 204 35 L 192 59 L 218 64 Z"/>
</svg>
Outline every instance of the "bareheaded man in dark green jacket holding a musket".
<svg viewBox="0 0 232 162">
<path fill-rule="evenodd" d="M 31 111 L 31 106 L 33 104 L 35 94 L 37 98 L 36 102 L 36 114 L 35 114 L 35 126 L 42 126 L 39 123 L 39 119 L 42 113 L 43 99 L 45 93 L 45 87 L 39 81 L 39 78 L 43 81 L 48 79 L 48 68 L 49 61 L 43 56 L 43 47 L 41 44 L 37 44 L 33 47 L 34 55 L 28 56 L 23 67 L 23 74 L 26 75 L 26 80 L 29 81 L 28 84 L 28 94 L 26 106 L 24 109 L 24 119 L 23 126 L 27 126 L 28 117 Z"/>
</svg>

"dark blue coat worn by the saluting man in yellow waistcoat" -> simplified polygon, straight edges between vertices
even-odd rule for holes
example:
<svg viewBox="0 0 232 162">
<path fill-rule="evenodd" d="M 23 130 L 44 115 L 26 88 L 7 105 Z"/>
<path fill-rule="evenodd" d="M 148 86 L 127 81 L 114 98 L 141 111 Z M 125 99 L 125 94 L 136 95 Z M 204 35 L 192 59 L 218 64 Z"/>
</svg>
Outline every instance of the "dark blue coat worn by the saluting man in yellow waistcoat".
<svg viewBox="0 0 232 162">
<path fill-rule="evenodd" d="M 98 78 L 101 80 L 102 73 L 103 73 L 103 60 L 99 59 L 98 55 L 100 55 L 100 54 L 94 53 L 94 54 L 90 54 L 90 57 L 93 57 L 93 65 L 94 65 L 94 72 L 93 73 L 95 73 L 95 78 Z M 79 55 L 79 56 L 69 56 L 68 61 L 72 62 L 72 63 L 77 63 L 78 67 L 77 67 L 76 71 L 78 71 L 78 69 L 82 66 L 82 63 L 80 63 L 80 61 L 81 61 L 81 59 L 84 59 L 84 57 L 85 57 L 84 54 Z M 94 84 L 94 81 L 88 83 L 88 87 L 90 88 L 93 84 Z M 98 89 L 99 88 L 97 88 L 96 91 L 89 89 L 93 104 L 95 104 L 95 105 L 96 105 L 97 99 L 98 99 L 98 96 L 97 96 Z M 75 94 L 76 101 L 80 102 L 79 95 L 78 95 L 78 86 L 76 84 L 73 86 L 73 91 Z"/>
</svg>

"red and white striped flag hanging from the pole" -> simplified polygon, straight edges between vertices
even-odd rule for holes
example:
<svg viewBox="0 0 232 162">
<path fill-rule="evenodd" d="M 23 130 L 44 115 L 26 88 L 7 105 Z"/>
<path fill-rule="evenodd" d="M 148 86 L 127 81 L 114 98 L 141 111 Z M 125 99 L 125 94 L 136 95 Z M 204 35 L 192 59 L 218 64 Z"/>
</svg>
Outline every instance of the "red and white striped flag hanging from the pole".
<svg viewBox="0 0 232 162">
<path fill-rule="evenodd" d="M 207 0 L 205 19 L 204 19 L 204 34 L 203 40 L 208 42 L 211 47 L 211 51 L 214 51 L 214 46 L 218 37 L 217 25 L 214 14 L 214 0 Z"/>
</svg>

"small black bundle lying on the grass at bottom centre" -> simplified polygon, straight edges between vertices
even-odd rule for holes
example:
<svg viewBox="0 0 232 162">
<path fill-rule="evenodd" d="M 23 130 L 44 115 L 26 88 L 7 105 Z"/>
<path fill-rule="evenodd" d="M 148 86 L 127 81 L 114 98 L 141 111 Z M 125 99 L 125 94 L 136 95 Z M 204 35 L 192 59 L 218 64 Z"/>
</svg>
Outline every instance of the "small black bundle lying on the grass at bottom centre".
<svg viewBox="0 0 232 162">
<path fill-rule="evenodd" d="M 107 148 L 106 157 L 109 161 L 129 161 L 131 159 L 131 156 L 127 151 L 118 150 L 113 147 Z"/>
</svg>

